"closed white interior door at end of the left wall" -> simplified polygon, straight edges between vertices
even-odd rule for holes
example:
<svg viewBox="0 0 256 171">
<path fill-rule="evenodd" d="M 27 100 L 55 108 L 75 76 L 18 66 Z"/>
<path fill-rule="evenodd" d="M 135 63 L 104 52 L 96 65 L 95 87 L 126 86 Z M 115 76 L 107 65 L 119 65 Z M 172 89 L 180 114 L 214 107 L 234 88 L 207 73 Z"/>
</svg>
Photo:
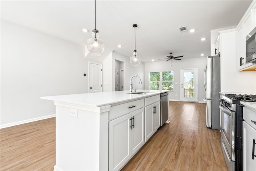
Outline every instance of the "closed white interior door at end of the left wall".
<svg viewBox="0 0 256 171">
<path fill-rule="evenodd" d="M 89 63 L 89 92 L 102 92 L 102 65 Z"/>
</svg>

